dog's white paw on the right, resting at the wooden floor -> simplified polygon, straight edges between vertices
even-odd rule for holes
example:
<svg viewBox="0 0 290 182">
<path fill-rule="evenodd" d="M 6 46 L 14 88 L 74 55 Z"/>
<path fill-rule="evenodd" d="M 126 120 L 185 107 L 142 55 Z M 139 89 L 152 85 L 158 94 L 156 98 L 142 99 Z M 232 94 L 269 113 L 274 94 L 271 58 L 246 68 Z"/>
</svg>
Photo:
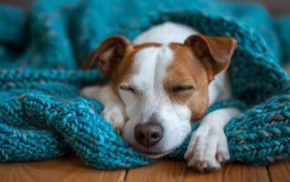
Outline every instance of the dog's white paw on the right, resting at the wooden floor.
<svg viewBox="0 0 290 182">
<path fill-rule="evenodd" d="M 185 153 L 188 167 L 201 172 L 214 171 L 230 158 L 227 140 L 223 130 L 198 128 L 191 136 Z"/>
</svg>

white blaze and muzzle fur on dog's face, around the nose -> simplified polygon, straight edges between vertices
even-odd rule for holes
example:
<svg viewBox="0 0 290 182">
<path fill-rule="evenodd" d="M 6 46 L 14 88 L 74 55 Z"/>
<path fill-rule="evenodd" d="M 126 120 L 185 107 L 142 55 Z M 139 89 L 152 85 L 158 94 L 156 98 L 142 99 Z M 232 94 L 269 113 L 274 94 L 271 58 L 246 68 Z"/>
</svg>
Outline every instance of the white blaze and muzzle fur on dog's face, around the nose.
<svg viewBox="0 0 290 182">
<path fill-rule="evenodd" d="M 190 131 L 191 112 L 185 105 L 173 103 L 165 93 L 163 83 L 166 69 L 172 63 L 174 53 L 168 45 L 148 47 L 137 52 L 134 58 L 133 74 L 125 81 L 135 88 L 136 93 L 120 90 L 129 120 L 123 136 L 127 142 L 139 150 L 165 153 L 181 145 Z M 122 85 L 122 83 L 121 83 Z M 164 136 L 154 147 L 143 147 L 135 141 L 135 126 L 145 123 L 152 116 L 164 128 Z"/>
</svg>

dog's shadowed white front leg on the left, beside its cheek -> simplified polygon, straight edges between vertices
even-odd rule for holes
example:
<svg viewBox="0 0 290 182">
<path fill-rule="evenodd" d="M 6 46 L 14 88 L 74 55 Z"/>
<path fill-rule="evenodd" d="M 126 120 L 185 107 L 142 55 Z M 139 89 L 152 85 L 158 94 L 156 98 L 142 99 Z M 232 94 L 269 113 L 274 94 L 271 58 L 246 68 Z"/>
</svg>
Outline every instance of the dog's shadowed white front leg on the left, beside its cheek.
<svg viewBox="0 0 290 182">
<path fill-rule="evenodd" d="M 119 97 L 115 95 L 112 87 L 109 85 L 88 86 L 81 92 L 83 95 L 93 97 L 103 104 L 104 110 L 101 115 L 105 121 L 115 127 L 118 134 L 121 134 L 126 120 L 125 106 Z"/>
</svg>

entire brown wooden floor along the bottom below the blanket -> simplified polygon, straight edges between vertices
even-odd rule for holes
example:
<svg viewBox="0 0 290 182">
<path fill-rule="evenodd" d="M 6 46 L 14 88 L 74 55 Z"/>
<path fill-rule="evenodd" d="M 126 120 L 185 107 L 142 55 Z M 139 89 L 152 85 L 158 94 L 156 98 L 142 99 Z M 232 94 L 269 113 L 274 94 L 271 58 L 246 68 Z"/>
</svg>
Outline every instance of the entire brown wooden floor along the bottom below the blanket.
<svg viewBox="0 0 290 182">
<path fill-rule="evenodd" d="M 102 171 L 85 167 L 74 157 L 43 162 L 0 165 L 0 181 L 102 181 L 102 182 L 187 182 L 187 181 L 290 181 L 290 160 L 269 167 L 226 165 L 214 173 L 201 174 L 185 167 L 183 161 L 164 160 L 149 167 L 130 170 Z"/>
</svg>

